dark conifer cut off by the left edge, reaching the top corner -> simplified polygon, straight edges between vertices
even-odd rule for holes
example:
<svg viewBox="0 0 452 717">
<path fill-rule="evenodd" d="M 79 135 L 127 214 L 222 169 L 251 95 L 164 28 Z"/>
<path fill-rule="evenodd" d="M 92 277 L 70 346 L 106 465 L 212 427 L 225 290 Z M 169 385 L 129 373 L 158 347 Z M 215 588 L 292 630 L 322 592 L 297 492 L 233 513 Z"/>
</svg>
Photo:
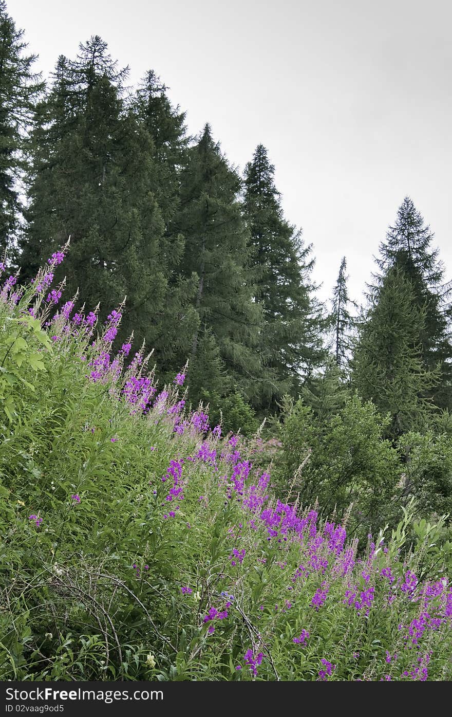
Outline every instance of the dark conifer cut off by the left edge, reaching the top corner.
<svg viewBox="0 0 452 717">
<path fill-rule="evenodd" d="M 21 217 L 20 182 L 25 167 L 24 143 L 34 105 L 44 87 L 32 72 L 34 54 L 24 54 L 24 31 L 16 29 L 0 0 L 0 257 L 16 262 L 16 234 Z"/>
</svg>

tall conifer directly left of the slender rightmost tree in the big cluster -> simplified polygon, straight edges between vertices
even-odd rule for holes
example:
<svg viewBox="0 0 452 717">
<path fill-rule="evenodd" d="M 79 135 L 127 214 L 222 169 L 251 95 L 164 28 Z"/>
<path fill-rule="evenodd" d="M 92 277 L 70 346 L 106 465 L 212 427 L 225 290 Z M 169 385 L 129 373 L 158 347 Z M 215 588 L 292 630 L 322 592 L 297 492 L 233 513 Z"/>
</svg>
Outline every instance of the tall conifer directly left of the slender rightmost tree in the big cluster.
<svg viewBox="0 0 452 717">
<path fill-rule="evenodd" d="M 199 348 L 208 332 L 228 376 L 245 397 L 254 399 L 261 382 L 256 346 L 262 318 L 253 301 L 249 237 L 238 199 L 241 181 L 213 141 L 208 125 L 190 149 L 188 160 L 181 174 L 181 206 L 173 223 L 173 231 L 182 233 L 186 242 L 181 271 L 186 277 L 193 272 L 198 277 L 193 305 L 200 323 L 193 332 L 188 375 L 197 371 Z"/>
</svg>

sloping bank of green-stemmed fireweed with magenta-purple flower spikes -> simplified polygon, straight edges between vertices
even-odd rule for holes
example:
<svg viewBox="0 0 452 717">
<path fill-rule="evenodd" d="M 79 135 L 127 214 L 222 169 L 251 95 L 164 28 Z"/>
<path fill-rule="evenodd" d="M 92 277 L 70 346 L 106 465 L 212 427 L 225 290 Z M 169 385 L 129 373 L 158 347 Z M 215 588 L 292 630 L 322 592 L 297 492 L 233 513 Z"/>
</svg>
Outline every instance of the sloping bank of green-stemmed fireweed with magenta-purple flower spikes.
<svg viewBox="0 0 452 717">
<path fill-rule="evenodd" d="M 113 348 L 124 307 L 97 329 L 52 288 L 66 251 L 1 277 L 0 679 L 450 680 L 431 533 L 407 545 L 408 509 L 358 554 L 347 516 L 279 500 L 184 367 L 158 386 Z"/>
</svg>

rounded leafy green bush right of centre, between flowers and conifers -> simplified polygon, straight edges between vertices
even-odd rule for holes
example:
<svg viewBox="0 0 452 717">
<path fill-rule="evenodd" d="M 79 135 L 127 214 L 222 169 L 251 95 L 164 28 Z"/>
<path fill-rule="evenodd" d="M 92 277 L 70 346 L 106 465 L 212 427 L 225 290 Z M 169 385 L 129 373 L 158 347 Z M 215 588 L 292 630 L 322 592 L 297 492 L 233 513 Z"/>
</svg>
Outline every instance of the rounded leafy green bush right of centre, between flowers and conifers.
<svg viewBox="0 0 452 717">
<path fill-rule="evenodd" d="M 332 417 L 319 416 L 304 404 L 284 406 L 277 462 L 279 492 L 299 496 L 304 505 L 317 500 L 326 513 L 335 511 L 361 535 L 362 526 L 378 531 L 398 515 L 398 452 L 383 439 L 388 419 L 375 406 L 350 397 Z M 367 533 L 365 533 L 367 535 Z"/>
</svg>

